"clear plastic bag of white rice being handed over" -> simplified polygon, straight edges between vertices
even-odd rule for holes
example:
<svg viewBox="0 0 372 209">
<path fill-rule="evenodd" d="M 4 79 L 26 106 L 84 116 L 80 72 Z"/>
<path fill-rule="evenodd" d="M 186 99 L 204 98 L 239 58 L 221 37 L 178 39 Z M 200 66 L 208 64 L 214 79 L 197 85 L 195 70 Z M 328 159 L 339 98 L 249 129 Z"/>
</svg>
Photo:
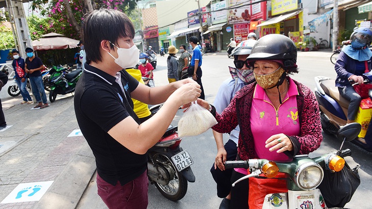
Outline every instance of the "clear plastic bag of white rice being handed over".
<svg viewBox="0 0 372 209">
<path fill-rule="evenodd" d="M 207 109 L 192 102 L 178 122 L 178 136 L 196 136 L 216 124 L 216 118 Z"/>
</svg>

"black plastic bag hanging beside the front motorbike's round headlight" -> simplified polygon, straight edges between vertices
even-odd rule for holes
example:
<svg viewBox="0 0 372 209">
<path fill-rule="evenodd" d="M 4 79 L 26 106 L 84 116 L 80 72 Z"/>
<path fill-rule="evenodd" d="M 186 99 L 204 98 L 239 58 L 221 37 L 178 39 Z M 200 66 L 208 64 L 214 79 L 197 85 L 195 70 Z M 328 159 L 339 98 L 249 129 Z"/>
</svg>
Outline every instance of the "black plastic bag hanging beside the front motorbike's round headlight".
<svg viewBox="0 0 372 209">
<path fill-rule="evenodd" d="M 339 172 L 324 171 L 324 178 L 318 189 L 321 190 L 327 207 L 343 207 L 351 200 L 360 185 L 358 169 L 359 165 L 351 169 L 345 162 Z"/>
</svg>

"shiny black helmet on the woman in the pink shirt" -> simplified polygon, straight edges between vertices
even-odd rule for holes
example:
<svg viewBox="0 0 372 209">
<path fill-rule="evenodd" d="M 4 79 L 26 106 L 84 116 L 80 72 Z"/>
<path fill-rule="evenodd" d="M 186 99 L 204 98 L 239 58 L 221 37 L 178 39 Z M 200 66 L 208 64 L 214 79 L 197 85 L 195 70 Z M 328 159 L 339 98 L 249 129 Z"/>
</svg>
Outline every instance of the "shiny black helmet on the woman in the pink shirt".
<svg viewBox="0 0 372 209">
<path fill-rule="evenodd" d="M 297 47 L 286 36 L 269 34 L 258 39 L 247 60 L 250 66 L 254 66 L 256 60 L 262 59 L 280 59 L 283 61 L 282 67 L 287 73 L 298 73 Z"/>
</svg>

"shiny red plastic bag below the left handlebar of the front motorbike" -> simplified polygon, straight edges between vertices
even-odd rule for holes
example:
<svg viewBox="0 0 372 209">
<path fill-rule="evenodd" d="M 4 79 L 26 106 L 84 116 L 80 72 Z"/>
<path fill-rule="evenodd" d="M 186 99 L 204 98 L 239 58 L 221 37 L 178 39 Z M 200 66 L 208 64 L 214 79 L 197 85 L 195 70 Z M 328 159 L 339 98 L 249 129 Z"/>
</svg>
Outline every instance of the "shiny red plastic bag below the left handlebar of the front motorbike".
<svg viewBox="0 0 372 209">
<path fill-rule="evenodd" d="M 286 178 L 286 175 L 279 172 L 275 178 L 249 178 L 249 209 L 262 209 L 267 194 L 288 192 L 287 181 L 276 178 Z"/>
</svg>

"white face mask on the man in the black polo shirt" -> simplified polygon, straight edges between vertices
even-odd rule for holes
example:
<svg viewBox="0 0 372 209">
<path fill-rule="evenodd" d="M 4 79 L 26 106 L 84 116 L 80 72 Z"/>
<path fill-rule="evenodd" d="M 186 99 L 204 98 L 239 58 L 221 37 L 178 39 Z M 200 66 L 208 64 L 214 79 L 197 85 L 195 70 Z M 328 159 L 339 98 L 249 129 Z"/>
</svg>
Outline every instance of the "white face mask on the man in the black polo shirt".
<svg viewBox="0 0 372 209">
<path fill-rule="evenodd" d="M 113 43 L 111 44 L 114 45 Z M 118 64 L 118 66 L 126 69 L 135 67 L 137 65 L 140 60 L 140 51 L 138 50 L 136 45 L 133 45 L 129 49 L 119 48 L 117 46 L 115 47 L 118 49 L 118 58 L 115 58 L 112 54 L 110 54 L 110 52 L 107 53 L 109 53 L 115 59 L 115 63 Z"/>
</svg>

